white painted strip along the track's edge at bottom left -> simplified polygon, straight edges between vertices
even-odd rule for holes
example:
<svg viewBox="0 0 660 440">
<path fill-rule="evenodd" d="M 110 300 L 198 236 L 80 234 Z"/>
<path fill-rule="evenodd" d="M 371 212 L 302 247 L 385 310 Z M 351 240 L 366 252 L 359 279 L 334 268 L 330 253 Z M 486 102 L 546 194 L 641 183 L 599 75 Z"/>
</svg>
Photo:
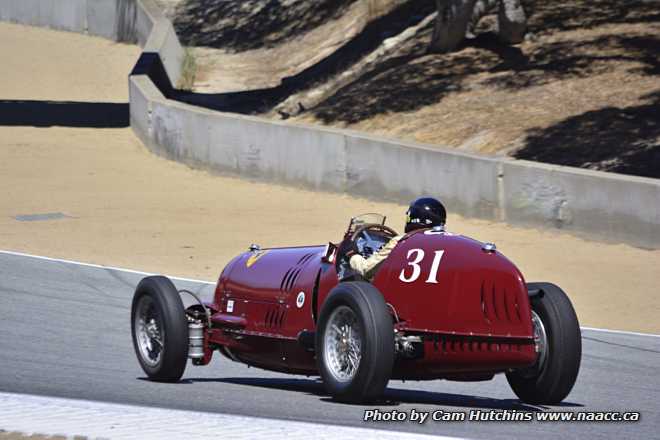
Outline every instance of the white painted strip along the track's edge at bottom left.
<svg viewBox="0 0 660 440">
<path fill-rule="evenodd" d="M 458 437 L 14 393 L 0 393 L 0 428 L 28 435 L 86 436 L 117 440 L 461 440 Z"/>
</svg>

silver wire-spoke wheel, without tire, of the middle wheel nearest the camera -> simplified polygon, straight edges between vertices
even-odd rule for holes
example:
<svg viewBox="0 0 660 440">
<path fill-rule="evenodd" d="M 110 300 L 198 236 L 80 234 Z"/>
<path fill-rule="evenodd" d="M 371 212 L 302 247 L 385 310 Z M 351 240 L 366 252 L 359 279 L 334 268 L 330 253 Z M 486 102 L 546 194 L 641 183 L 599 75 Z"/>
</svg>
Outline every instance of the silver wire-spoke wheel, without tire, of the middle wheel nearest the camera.
<svg viewBox="0 0 660 440">
<path fill-rule="evenodd" d="M 324 356 L 328 370 L 339 382 L 355 377 L 362 359 L 362 329 L 350 307 L 337 307 L 330 318 L 324 336 Z"/>
</svg>

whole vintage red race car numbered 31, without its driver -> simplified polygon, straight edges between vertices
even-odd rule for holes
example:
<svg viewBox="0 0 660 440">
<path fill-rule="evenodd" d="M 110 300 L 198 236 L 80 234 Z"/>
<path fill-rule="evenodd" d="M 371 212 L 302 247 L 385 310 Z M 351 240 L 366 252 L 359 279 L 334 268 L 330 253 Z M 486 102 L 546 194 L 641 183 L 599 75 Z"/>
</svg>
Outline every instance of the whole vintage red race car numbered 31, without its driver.
<svg viewBox="0 0 660 440">
<path fill-rule="evenodd" d="M 368 256 L 397 235 L 385 217 L 351 219 L 344 240 Z M 336 399 L 378 399 L 390 379 L 489 380 L 505 373 L 524 402 L 571 391 L 581 336 L 566 294 L 525 283 L 495 245 L 434 227 L 399 241 L 368 282 L 325 246 L 253 245 L 222 271 L 214 300 L 144 278 L 133 298 L 138 360 L 156 381 L 178 381 L 187 359 L 214 351 L 245 364 L 320 375 Z M 198 304 L 184 308 L 181 294 Z"/>
</svg>

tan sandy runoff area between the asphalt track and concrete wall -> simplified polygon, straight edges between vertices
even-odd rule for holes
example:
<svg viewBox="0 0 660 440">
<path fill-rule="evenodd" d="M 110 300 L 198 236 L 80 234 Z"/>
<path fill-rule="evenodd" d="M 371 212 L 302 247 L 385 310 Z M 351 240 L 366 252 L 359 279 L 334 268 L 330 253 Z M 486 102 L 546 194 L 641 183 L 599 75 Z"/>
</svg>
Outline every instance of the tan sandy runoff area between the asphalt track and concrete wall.
<svg viewBox="0 0 660 440">
<path fill-rule="evenodd" d="M 17 123 L 7 116 L 17 100 L 37 101 L 37 111 L 48 101 L 127 102 L 126 75 L 139 51 L 6 23 L 0 41 L 0 249 L 213 280 L 253 242 L 337 240 L 361 212 L 403 227 L 404 206 L 193 170 L 150 154 L 128 127 L 81 127 L 80 115 L 52 127 L 31 126 L 29 117 Z M 496 242 L 530 281 L 561 285 L 582 325 L 660 333 L 660 251 L 448 209 L 453 232 Z M 64 217 L 16 219 L 48 213 Z"/>
</svg>

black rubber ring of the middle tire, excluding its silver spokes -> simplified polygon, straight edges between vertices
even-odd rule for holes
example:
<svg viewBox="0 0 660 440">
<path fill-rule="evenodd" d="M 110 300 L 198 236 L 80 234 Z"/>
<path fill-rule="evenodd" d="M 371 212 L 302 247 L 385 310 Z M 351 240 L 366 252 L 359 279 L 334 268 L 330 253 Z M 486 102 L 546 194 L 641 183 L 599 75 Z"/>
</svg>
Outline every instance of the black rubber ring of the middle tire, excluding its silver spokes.
<svg viewBox="0 0 660 440">
<path fill-rule="evenodd" d="M 361 330 L 360 360 L 352 378 L 339 380 L 332 372 L 326 353 L 329 319 L 348 307 Z M 316 362 L 328 393 L 343 402 L 369 402 L 380 398 L 394 365 L 392 315 L 381 293 L 363 281 L 343 282 L 326 299 L 316 331 Z"/>
</svg>

